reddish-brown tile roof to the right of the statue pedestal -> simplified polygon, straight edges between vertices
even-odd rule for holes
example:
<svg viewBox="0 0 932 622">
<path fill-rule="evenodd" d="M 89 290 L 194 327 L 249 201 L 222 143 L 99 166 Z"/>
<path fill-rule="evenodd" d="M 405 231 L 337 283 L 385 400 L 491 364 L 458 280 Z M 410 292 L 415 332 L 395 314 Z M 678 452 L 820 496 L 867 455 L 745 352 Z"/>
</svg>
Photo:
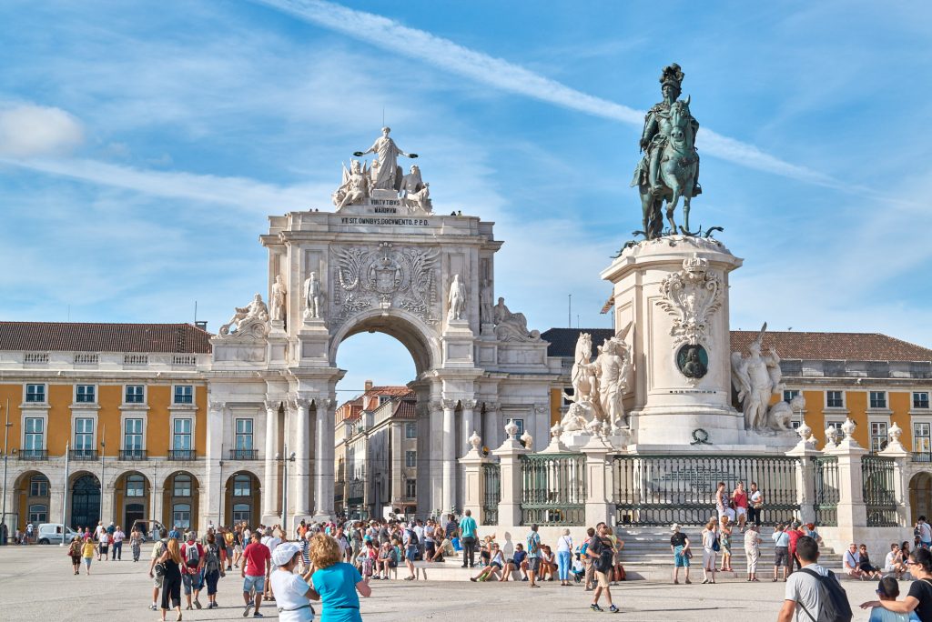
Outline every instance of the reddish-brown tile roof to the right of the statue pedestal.
<svg viewBox="0 0 932 622">
<path fill-rule="evenodd" d="M 757 335 L 758 331 L 732 331 L 732 350 L 744 352 Z M 879 332 L 767 331 L 764 352 L 771 347 L 780 358 L 802 360 L 932 360 L 932 350 Z"/>
</svg>

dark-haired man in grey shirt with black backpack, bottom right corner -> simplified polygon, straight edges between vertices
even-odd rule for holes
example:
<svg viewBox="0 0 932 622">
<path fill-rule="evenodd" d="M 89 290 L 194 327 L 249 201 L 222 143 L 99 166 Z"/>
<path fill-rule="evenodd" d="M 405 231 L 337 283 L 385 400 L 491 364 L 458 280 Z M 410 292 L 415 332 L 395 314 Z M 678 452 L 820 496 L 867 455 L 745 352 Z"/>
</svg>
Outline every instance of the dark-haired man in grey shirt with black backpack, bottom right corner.
<svg viewBox="0 0 932 622">
<path fill-rule="evenodd" d="M 796 543 L 796 557 L 802 568 L 787 579 L 777 622 L 851 622 L 851 605 L 838 578 L 816 563 L 816 540 L 803 535 Z"/>
</svg>

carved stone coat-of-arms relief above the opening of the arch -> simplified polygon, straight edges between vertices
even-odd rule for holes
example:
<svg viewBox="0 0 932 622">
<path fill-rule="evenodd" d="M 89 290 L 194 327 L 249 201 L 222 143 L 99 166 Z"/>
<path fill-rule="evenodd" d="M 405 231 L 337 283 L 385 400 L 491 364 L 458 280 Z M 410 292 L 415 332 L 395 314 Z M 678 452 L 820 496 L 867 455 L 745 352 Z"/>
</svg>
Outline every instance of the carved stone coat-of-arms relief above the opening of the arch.
<svg viewBox="0 0 932 622">
<path fill-rule="evenodd" d="M 435 324 L 439 316 L 437 258 L 432 248 L 336 247 L 332 251 L 336 323 L 372 307 L 397 306 Z"/>
</svg>

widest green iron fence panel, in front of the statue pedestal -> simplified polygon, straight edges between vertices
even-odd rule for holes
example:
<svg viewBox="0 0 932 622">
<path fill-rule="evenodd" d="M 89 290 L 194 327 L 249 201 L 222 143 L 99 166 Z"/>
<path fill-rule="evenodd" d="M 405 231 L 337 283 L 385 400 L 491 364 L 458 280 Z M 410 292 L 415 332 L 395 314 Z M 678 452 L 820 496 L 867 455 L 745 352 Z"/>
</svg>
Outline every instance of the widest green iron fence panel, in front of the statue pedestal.
<svg viewBox="0 0 932 622">
<path fill-rule="evenodd" d="M 718 483 L 731 493 L 758 484 L 767 521 L 799 513 L 798 461 L 788 456 L 616 455 L 612 461 L 617 524 L 697 525 L 717 516 Z"/>
</svg>

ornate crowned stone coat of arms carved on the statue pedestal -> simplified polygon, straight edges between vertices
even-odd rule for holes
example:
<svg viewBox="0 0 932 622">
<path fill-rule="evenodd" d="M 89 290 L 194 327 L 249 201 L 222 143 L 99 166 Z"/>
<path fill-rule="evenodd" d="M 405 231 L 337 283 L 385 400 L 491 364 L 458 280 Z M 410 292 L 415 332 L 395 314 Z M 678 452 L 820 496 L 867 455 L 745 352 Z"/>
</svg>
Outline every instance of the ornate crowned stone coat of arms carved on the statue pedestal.
<svg viewBox="0 0 932 622">
<path fill-rule="evenodd" d="M 661 283 L 663 298 L 657 304 L 673 316 L 670 335 L 674 345 L 709 344 L 708 320 L 720 308 L 721 279 L 708 269 L 708 260 L 693 254 L 683 269 Z"/>
</svg>

